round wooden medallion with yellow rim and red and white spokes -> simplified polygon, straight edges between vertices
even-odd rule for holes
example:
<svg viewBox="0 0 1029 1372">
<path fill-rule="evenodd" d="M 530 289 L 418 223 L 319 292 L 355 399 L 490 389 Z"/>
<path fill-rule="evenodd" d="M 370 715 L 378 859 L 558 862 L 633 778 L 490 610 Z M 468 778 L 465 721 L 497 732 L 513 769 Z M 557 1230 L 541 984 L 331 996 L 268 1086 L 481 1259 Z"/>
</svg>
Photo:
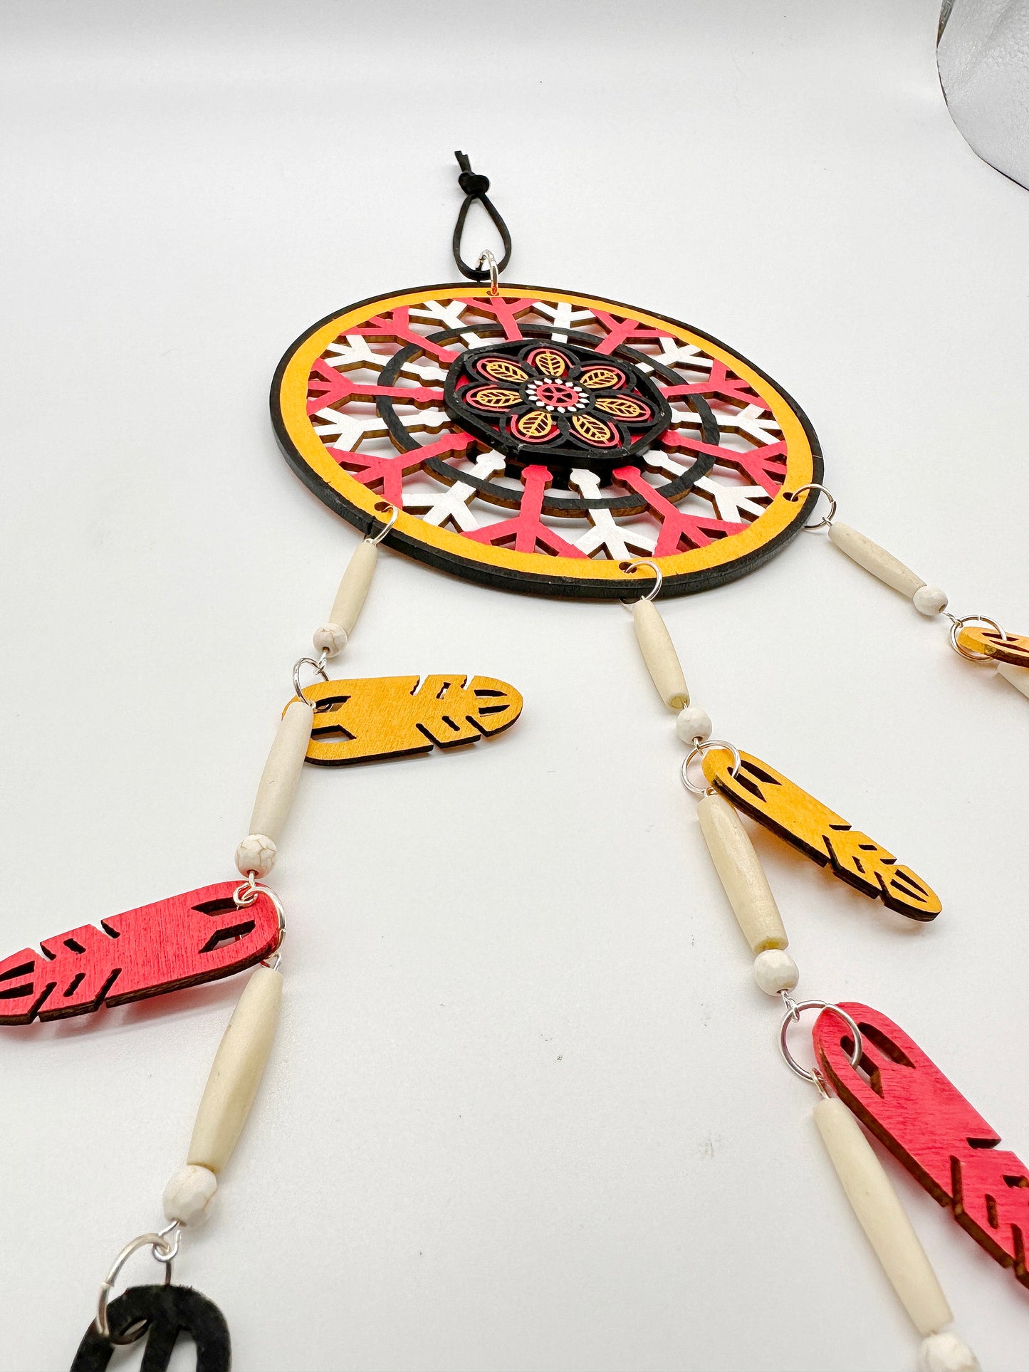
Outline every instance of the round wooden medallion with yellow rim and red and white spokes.
<svg viewBox="0 0 1029 1372">
<path fill-rule="evenodd" d="M 359 530 L 469 580 L 626 598 L 760 567 L 822 480 L 789 395 L 697 329 L 569 291 L 418 287 L 307 329 L 272 384 L 272 420 L 307 486 Z M 642 575 L 646 575 L 643 571 Z"/>
</svg>

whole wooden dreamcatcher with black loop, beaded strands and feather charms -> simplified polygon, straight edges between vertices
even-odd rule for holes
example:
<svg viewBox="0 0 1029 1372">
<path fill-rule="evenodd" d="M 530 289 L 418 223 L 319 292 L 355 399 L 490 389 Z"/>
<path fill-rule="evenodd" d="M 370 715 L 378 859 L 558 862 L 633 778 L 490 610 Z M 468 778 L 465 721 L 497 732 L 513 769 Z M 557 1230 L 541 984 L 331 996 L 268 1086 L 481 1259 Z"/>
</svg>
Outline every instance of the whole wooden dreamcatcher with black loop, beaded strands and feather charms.
<svg viewBox="0 0 1029 1372">
<path fill-rule="evenodd" d="M 458 162 L 465 202 L 454 257 L 468 284 L 380 295 L 327 316 L 274 375 L 272 414 L 287 458 L 365 538 L 314 630 L 317 656 L 294 665 L 250 831 L 236 847 L 240 879 L 84 922 L 44 938 L 38 951 L 0 960 L 0 1025 L 10 1026 L 88 1015 L 254 969 L 215 1055 L 187 1161 L 165 1188 L 167 1224 L 115 1257 L 71 1372 L 99 1372 L 118 1345 L 143 1338 L 143 1367 L 161 1372 L 181 1334 L 192 1336 L 200 1372 L 230 1365 L 224 1317 L 191 1287 L 172 1284 L 172 1264 L 214 1202 L 272 1050 L 287 921 L 265 878 L 305 764 L 453 752 L 506 733 L 520 716 L 521 694 L 493 675 L 329 679 L 327 664 L 347 649 L 383 542 L 504 590 L 631 601 L 643 663 L 687 749 L 682 779 L 700 797 L 698 831 L 753 956 L 755 981 L 781 997 L 779 1047 L 818 1088 L 815 1124 L 922 1336 L 921 1367 L 973 1372 L 975 1360 L 947 1328 L 947 1299 L 868 1136 L 1024 1286 L 1029 1168 L 997 1148 L 999 1135 L 892 1019 L 860 1002 L 794 999 L 800 970 L 741 815 L 923 929 L 941 901 L 834 807 L 711 737 L 711 719 L 690 701 L 653 604 L 753 571 L 803 528 L 826 528 L 848 557 L 929 617 L 944 613 L 947 597 L 834 523 L 831 497 L 829 514 L 808 520 L 829 495 L 818 440 L 803 410 L 745 358 L 663 314 L 501 285 L 510 237 L 486 177 L 472 173 L 464 154 Z M 501 230 L 501 263 L 484 252 L 469 268 L 461 257 L 472 200 Z M 650 584 L 641 583 L 643 567 Z M 982 616 L 947 617 L 956 652 L 995 664 L 1029 696 L 1029 639 Z M 811 1069 L 788 1041 L 805 1011 L 819 1015 Z M 147 1250 L 163 1265 L 165 1284 L 113 1299 L 128 1259 Z"/>
</svg>

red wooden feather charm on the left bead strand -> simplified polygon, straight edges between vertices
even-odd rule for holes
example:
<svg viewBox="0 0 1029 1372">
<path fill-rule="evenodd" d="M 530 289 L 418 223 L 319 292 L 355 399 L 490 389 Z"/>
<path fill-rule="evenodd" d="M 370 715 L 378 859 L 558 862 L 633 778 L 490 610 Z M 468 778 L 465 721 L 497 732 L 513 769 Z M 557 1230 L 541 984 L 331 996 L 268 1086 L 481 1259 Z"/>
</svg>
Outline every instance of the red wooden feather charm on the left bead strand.
<svg viewBox="0 0 1029 1372">
<path fill-rule="evenodd" d="M 237 907 L 237 881 L 187 890 L 47 938 L 0 962 L 0 1025 L 27 1025 L 230 977 L 279 947 L 279 912 L 259 893 Z"/>
</svg>

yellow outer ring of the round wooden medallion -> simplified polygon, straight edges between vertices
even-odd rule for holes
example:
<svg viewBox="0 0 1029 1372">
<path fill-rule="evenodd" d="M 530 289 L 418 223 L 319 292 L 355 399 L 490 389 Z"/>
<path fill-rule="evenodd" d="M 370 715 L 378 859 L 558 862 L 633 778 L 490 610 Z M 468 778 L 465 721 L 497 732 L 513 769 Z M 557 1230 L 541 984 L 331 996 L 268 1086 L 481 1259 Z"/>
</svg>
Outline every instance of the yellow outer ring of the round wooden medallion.
<svg viewBox="0 0 1029 1372">
<path fill-rule="evenodd" d="M 525 291 L 535 299 L 547 303 L 567 300 L 579 309 L 593 310 L 594 307 L 600 307 L 601 310 L 609 310 L 613 306 L 619 314 L 627 318 L 638 320 L 650 328 L 663 329 L 681 342 L 691 343 L 709 357 L 724 362 L 767 401 L 775 416 L 775 423 L 782 429 L 782 436 L 786 440 L 786 476 L 782 488 L 774 497 L 771 505 L 742 534 L 713 539 L 705 547 L 694 547 L 685 553 L 674 553 L 671 557 L 659 558 L 657 561 L 665 579 L 674 579 L 708 568 L 729 567 L 774 542 L 786 534 L 792 525 L 797 530 L 803 525 L 814 501 L 788 501 L 783 497 L 783 491 L 796 490 L 809 482 L 820 480 L 820 456 L 815 443 L 812 443 L 814 434 L 809 435 L 809 425 L 801 412 L 794 407 L 785 392 L 767 376 L 744 361 L 738 354 L 731 353 L 724 344 L 715 342 L 704 333 L 689 329 L 676 320 L 670 320 L 660 314 L 649 314 L 645 310 L 620 305 L 602 296 L 573 295 L 569 291 L 554 291 L 535 285 L 508 285 L 505 283 L 504 294 L 508 295 L 512 291 Z M 486 295 L 486 289 L 475 283 L 468 283 L 466 285 L 418 287 L 399 295 L 377 296 L 375 300 L 366 300 L 340 314 L 332 316 L 311 333 L 302 338 L 294 346 L 292 354 L 288 354 L 287 359 L 284 359 L 285 365 L 280 365 L 279 412 L 289 440 L 311 472 L 350 505 L 368 514 L 370 521 L 381 520 L 381 513 L 376 510 L 376 505 L 381 504 L 381 494 L 364 486 L 333 462 L 307 417 L 307 381 L 311 368 L 329 343 L 335 343 L 340 335 L 358 328 L 373 316 L 401 309 L 405 305 L 420 305 L 423 300 L 447 300 L 456 295 Z M 505 568 L 520 572 L 534 580 L 539 580 L 541 578 L 547 580 L 553 578 L 590 582 L 609 580 L 617 582 L 620 587 L 634 580 L 632 573 L 620 571 L 617 561 L 611 558 L 600 561 L 587 557 L 552 557 L 546 553 L 517 553 L 512 549 L 494 547 L 488 543 L 479 543 L 475 539 L 464 538 L 461 534 L 438 528 L 435 524 L 427 524 L 416 514 L 405 512 L 401 512 L 395 528 L 413 542 L 439 549 L 442 553 L 449 554 L 450 558 L 469 564 Z M 724 579 L 729 580 L 733 572 L 729 572 Z M 682 590 L 689 589 L 689 586 L 682 587 Z M 604 593 L 600 591 L 600 594 Z"/>
</svg>

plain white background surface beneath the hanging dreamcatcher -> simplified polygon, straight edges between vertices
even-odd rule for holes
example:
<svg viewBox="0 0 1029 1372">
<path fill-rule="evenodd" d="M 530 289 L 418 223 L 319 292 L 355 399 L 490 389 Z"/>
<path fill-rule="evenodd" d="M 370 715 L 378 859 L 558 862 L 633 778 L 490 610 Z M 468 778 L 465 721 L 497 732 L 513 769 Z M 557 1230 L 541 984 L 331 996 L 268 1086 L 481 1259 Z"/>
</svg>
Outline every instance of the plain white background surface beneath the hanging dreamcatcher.
<svg viewBox="0 0 1029 1372">
<path fill-rule="evenodd" d="M 333 307 L 453 279 L 456 147 L 514 280 L 740 348 L 842 519 L 1029 630 L 1029 195 L 952 126 L 936 12 L 7 0 L 4 954 L 232 875 L 355 545 L 269 379 Z M 820 538 L 665 611 L 716 730 L 944 899 L 914 926 L 759 833 L 801 991 L 885 1010 L 1029 1155 L 1026 701 Z M 346 671 L 456 668 L 516 683 L 519 726 L 303 777 L 281 1032 L 177 1268 L 235 1367 L 912 1368 L 631 622 L 387 553 Z M 239 989 L 3 1032 L 3 1372 L 70 1365 Z M 958 1328 L 1017 1372 L 1029 1292 L 890 1168 Z"/>
</svg>

